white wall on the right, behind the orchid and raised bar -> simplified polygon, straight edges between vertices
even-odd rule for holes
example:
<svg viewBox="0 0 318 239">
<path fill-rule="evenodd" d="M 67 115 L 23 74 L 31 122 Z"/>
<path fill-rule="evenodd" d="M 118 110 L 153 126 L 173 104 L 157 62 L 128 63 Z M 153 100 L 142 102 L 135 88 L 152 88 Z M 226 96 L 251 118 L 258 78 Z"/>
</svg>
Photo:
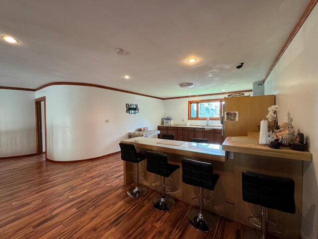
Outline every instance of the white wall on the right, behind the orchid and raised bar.
<svg viewBox="0 0 318 239">
<path fill-rule="evenodd" d="M 313 162 L 304 162 L 302 238 L 318 237 L 318 5 L 265 82 L 265 94 L 276 94 L 279 122 L 288 114 L 296 130 L 310 141 Z"/>
</svg>

